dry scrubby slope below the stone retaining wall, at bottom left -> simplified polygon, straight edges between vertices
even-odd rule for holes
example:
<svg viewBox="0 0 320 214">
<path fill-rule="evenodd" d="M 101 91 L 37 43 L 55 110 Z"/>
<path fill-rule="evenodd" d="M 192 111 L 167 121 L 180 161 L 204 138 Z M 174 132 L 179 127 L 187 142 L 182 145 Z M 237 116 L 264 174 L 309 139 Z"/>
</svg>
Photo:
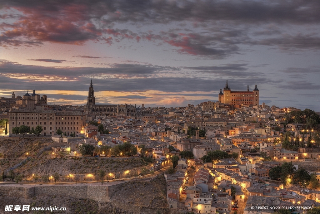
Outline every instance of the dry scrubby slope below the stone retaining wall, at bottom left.
<svg viewBox="0 0 320 214">
<path fill-rule="evenodd" d="M 0 196 L 0 213 L 5 205 L 30 205 L 30 207 L 66 207 L 66 211 L 30 211 L 32 214 L 168 214 L 164 176 L 150 182 L 126 182 L 112 196 L 109 203 L 94 200 L 78 200 L 60 195 L 35 196 L 32 199 L 16 196 Z M 18 212 L 16 212 L 18 213 Z"/>
</svg>

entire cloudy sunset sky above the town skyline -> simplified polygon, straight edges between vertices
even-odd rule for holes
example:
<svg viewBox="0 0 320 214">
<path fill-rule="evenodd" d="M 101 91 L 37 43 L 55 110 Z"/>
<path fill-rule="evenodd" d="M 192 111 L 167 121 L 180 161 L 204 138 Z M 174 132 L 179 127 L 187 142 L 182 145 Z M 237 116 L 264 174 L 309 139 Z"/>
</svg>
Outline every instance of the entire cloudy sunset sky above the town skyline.
<svg viewBox="0 0 320 214">
<path fill-rule="evenodd" d="M 0 96 L 179 107 L 260 91 L 320 111 L 320 1 L 2 0 Z"/>
</svg>

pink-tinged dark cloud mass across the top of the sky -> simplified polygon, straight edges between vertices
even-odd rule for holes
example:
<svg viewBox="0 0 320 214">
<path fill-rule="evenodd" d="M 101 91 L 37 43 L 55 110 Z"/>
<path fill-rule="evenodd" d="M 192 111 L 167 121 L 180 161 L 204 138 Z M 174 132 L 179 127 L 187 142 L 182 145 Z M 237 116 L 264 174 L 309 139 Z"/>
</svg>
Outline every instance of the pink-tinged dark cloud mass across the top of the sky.
<svg viewBox="0 0 320 214">
<path fill-rule="evenodd" d="M 0 24 L 2 46 L 43 42 L 82 45 L 89 40 L 111 45 L 123 39 L 136 42 L 144 39 L 169 44 L 181 54 L 216 59 L 242 52 L 240 44 L 278 46 L 283 50 L 320 48 L 317 35 L 291 35 L 281 27 L 319 24 L 319 1 L 4 0 L 2 5 L 4 9 L 19 11 L 15 22 Z M 2 15 L 4 19 L 9 17 L 12 14 Z M 139 26 L 189 23 L 206 30 L 195 33 L 185 28 L 152 33 L 115 27 L 123 23 Z M 251 39 L 251 31 L 253 36 L 281 36 Z"/>
</svg>

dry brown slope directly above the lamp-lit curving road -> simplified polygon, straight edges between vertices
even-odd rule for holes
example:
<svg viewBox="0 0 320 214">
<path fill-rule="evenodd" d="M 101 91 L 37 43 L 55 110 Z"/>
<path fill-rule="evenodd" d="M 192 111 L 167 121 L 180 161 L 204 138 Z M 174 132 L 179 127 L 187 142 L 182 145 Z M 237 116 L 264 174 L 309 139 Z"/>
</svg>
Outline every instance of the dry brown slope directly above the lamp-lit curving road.
<svg viewBox="0 0 320 214">
<path fill-rule="evenodd" d="M 119 172 L 125 170 L 137 170 L 140 172 L 142 167 L 147 166 L 148 162 L 142 158 L 128 160 L 111 160 L 101 158 L 80 158 L 80 157 L 60 157 L 60 158 L 31 158 L 26 164 L 15 169 L 15 172 L 24 174 L 25 178 L 30 178 L 32 174 L 52 175 L 58 172 L 60 175 L 69 174 L 89 174 L 100 169 L 106 172 Z"/>
</svg>

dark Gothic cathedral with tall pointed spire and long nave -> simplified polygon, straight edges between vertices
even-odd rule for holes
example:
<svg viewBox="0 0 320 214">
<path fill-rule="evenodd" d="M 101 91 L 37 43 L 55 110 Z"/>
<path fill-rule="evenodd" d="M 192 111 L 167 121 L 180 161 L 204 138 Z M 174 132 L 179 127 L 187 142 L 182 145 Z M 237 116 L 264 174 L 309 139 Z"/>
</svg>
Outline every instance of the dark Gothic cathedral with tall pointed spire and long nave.
<svg viewBox="0 0 320 214">
<path fill-rule="evenodd" d="M 92 80 L 89 87 L 87 104 L 84 107 L 87 119 L 91 120 L 96 115 L 104 116 L 136 116 L 136 106 L 131 104 L 95 104 L 94 90 Z"/>
</svg>

